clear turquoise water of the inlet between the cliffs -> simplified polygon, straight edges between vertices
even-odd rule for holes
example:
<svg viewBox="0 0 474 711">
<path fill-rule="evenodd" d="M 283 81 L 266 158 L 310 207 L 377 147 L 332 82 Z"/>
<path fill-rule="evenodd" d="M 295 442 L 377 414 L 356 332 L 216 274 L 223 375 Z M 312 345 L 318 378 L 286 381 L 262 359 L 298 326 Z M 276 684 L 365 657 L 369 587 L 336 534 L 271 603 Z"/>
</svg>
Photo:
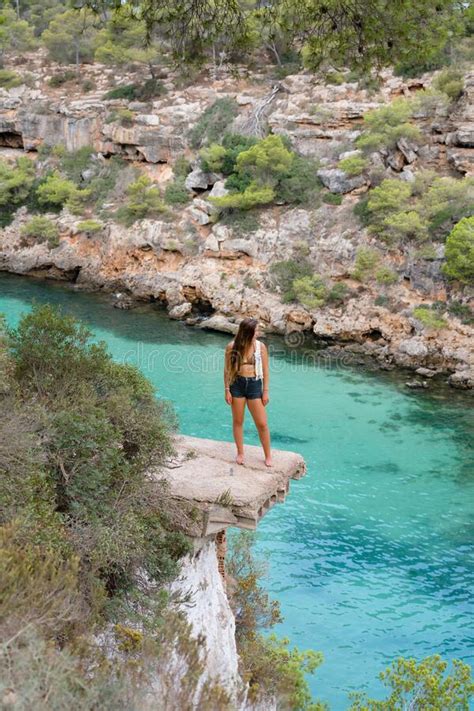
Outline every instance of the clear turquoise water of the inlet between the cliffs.
<svg viewBox="0 0 474 711">
<path fill-rule="evenodd" d="M 0 274 L 10 324 L 32 298 L 62 304 L 115 358 L 139 365 L 173 400 L 184 433 L 232 439 L 221 374 L 228 336 Z M 267 342 L 273 445 L 301 452 L 308 475 L 264 518 L 257 547 L 268 552 L 267 587 L 285 618 L 276 631 L 324 653 L 314 696 L 334 711 L 347 708 L 350 690 L 381 697 L 377 674 L 397 655 L 473 664 L 469 397 L 415 393 L 393 373 L 318 366 L 302 347 Z M 245 427 L 258 443 L 250 418 Z"/>
</svg>

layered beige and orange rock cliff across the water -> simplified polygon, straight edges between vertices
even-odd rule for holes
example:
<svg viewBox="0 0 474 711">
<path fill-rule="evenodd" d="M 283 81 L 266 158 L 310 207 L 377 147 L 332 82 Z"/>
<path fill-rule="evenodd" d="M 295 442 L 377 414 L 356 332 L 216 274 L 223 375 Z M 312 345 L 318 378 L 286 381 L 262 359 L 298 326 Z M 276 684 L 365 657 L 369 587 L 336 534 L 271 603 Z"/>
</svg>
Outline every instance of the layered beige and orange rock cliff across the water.
<svg viewBox="0 0 474 711">
<path fill-rule="evenodd" d="M 206 173 L 194 163 L 186 177 L 189 205 L 173 208 L 163 219 L 137 222 L 130 229 L 109 221 L 95 236 L 82 233 L 80 219 L 63 210 L 50 216 L 60 230 L 60 244 L 54 249 L 46 243 L 22 241 L 20 231 L 27 219 L 22 208 L 13 223 L 0 231 L 1 269 L 119 291 L 128 299 L 122 304 L 157 299 L 167 305 L 171 318 L 228 333 L 235 333 L 243 316 L 254 316 L 267 332 L 312 331 L 331 345 L 364 345 L 380 363 L 444 372 L 456 387 L 472 381 L 472 329 L 449 314 L 445 316 L 448 327 L 436 332 L 420 330 L 410 318 L 414 306 L 446 299 L 442 246 L 426 259 L 408 248 L 383 254 L 354 217 L 353 208 L 367 189 L 371 171 L 378 179 L 397 174 L 407 181 L 420 168 L 440 174 L 455 169 L 460 176 L 474 173 L 474 74 L 465 77 L 464 93 L 449 111 L 440 109 L 434 116 L 421 111 L 423 145 L 401 139 L 394 150 L 370 157 L 367 175 L 350 177 L 338 163 L 357 155 L 354 140 L 360 135 L 364 113 L 429 86 L 429 75 L 422 81 L 405 81 L 386 73 L 380 91 L 370 95 L 354 83 L 328 87 L 308 74 L 290 75 L 277 85 L 226 76 L 212 85 L 203 81 L 185 90 L 176 89 L 171 77 L 164 96 L 126 102 L 103 98 L 110 69 L 85 68 L 98 91 L 84 97 L 70 96 L 65 88 L 49 89 L 46 72 L 51 68 L 41 63 L 35 67 L 34 89 L 26 85 L 8 92 L 0 89 L 0 155 L 4 152 L 9 159 L 15 151 L 36 150 L 44 144 L 60 142 L 68 150 L 88 145 L 98 152 L 99 160 L 121 155 L 158 182 L 166 182 L 172 178 L 170 166 L 176 157 L 186 152 L 189 156 L 187 137 L 202 112 L 216 99 L 230 97 L 238 106 L 236 121 L 242 130 L 252 125 L 256 107 L 265 105 L 265 122 L 271 130 L 288 136 L 296 150 L 315 159 L 326 192 L 340 195 L 342 203 L 274 206 L 260 211 L 252 229 L 216 223 L 207 198 L 226 194 L 224 176 Z M 121 81 L 133 79 L 124 75 Z M 268 97 L 271 101 L 265 103 Z M 115 117 L 125 107 L 132 114 L 130 125 Z M 355 282 L 351 275 L 361 247 L 378 250 L 398 282 L 387 287 L 375 280 Z M 315 273 L 349 289 L 343 305 L 336 302 L 312 309 L 282 301 L 271 276 L 272 265 L 298 254 L 305 255 Z M 459 300 L 467 304 L 470 296 L 465 289 Z M 416 352 L 406 346 L 413 338 L 420 344 Z"/>
</svg>

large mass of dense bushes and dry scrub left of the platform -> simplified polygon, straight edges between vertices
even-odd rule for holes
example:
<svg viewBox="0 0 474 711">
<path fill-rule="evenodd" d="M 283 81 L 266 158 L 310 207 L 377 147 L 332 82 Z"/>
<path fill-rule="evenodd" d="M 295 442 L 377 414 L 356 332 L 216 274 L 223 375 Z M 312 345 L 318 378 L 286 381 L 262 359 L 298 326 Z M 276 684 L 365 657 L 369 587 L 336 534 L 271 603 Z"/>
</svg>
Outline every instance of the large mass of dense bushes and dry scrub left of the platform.
<svg viewBox="0 0 474 711">
<path fill-rule="evenodd" d="M 170 403 L 49 305 L 0 340 L 4 698 L 42 708 L 47 689 L 58 709 L 132 708 L 156 668 L 166 680 L 173 650 L 186 659 L 187 708 L 202 644 L 160 586 L 189 543 L 171 528 L 165 487 L 145 473 L 174 454 Z M 200 705 L 228 709 L 211 686 Z"/>
</svg>

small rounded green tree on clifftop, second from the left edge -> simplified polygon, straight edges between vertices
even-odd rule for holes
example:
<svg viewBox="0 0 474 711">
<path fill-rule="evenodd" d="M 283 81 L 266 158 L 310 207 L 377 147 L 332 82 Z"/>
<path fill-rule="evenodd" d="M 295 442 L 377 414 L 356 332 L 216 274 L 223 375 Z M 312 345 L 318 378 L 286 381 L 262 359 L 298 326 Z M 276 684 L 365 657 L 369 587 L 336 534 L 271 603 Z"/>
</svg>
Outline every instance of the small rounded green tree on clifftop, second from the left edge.
<svg viewBox="0 0 474 711">
<path fill-rule="evenodd" d="M 52 59 L 63 64 L 91 61 L 97 37 L 97 18 L 87 8 L 56 15 L 41 35 Z"/>
</svg>

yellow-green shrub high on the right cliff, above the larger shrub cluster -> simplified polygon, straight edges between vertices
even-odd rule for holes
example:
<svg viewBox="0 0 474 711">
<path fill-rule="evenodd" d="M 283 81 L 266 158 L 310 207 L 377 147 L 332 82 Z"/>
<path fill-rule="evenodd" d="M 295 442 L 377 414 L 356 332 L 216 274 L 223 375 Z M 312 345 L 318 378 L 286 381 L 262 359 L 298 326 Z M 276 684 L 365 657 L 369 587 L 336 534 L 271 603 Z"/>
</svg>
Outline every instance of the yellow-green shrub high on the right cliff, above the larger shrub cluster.
<svg viewBox="0 0 474 711">
<path fill-rule="evenodd" d="M 356 145 L 370 153 L 380 148 L 394 148 L 401 138 L 419 140 L 421 131 L 409 123 L 412 112 L 413 104 L 407 99 L 395 99 L 391 104 L 368 111 L 364 116 L 365 130 Z"/>
</svg>

